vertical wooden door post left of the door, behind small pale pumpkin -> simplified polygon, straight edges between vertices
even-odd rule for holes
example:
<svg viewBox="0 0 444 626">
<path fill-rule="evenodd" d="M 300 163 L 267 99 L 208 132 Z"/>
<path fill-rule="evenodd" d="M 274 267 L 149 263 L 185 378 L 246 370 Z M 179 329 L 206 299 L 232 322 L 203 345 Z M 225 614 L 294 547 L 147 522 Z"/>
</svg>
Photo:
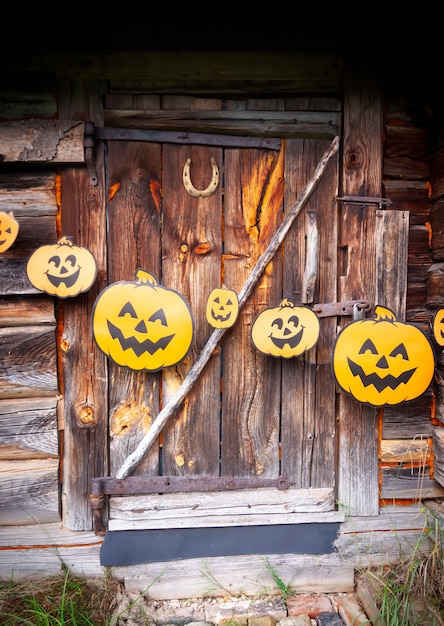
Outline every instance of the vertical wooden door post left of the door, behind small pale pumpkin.
<svg viewBox="0 0 444 626">
<path fill-rule="evenodd" d="M 95 82 L 59 84 L 62 119 L 91 120 L 103 125 L 103 85 Z M 98 353 L 91 332 L 91 311 L 106 286 L 106 210 L 103 150 L 95 150 L 98 184 L 93 187 L 86 168 L 63 168 L 61 173 L 61 230 L 78 233 L 76 243 L 88 248 L 97 262 L 92 288 L 63 303 L 61 376 L 64 395 L 64 458 L 62 511 L 72 530 L 90 530 L 88 492 L 91 478 L 108 473 L 108 387 L 106 357 Z"/>
</svg>

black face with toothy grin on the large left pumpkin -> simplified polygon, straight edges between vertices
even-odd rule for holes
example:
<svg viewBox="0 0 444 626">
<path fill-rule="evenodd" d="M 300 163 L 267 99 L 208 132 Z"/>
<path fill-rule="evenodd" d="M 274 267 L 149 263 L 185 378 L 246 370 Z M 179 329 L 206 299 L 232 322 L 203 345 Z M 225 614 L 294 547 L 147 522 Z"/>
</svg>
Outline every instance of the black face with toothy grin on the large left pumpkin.
<svg viewBox="0 0 444 626">
<path fill-rule="evenodd" d="M 121 310 L 119 317 L 129 316 L 130 318 L 136 318 L 136 313 L 132 305 L 128 302 Z M 165 318 L 165 313 L 162 309 L 159 309 L 151 317 L 149 320 L 137 320 L 136 325 L 133 329 L 133 335 L 129 337 L 125 337 L 122 330 L 113 324 L 110 320 L 108 320 L 108 330 L 112 339 L 117 339 L 122 350 L 132 350 L 134 354 L 140 357 L 142 354 L 155 354 L 158 350 L 165 350 L 168 347 L 171 340 L 174 338 L 175 333 L 172 335 L 165 335 L 160 337 L 156 341 L 153 341 L 149 338 L 148 332 L 149 329 L 155 329 L 156 334 L 158 335 L 159 326 L 166 327 L 167 322 Z M 154 325 L 154 326 L 153 326 Z M 140 336 L 140 339 L 138 336 Z"/>
</svg>

